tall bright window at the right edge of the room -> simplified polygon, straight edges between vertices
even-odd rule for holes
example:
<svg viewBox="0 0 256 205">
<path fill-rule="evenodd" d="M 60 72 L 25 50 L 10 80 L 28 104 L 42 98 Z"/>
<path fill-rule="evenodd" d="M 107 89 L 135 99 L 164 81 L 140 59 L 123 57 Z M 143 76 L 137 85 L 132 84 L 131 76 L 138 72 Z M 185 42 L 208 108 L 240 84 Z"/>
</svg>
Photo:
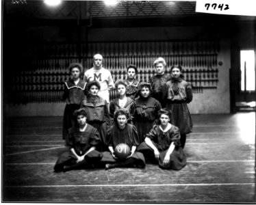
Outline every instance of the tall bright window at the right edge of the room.
<svg viewBox="0 0 256 205">
<path fill-rule="evenodd" d="M 255 53 L 253 50 L 244 50 L 241 51 L 240 57 L 241 90 L 255 91 Z M 246 74 L 244 74 L 244 70 L 246 70 Z"/>
</svg>

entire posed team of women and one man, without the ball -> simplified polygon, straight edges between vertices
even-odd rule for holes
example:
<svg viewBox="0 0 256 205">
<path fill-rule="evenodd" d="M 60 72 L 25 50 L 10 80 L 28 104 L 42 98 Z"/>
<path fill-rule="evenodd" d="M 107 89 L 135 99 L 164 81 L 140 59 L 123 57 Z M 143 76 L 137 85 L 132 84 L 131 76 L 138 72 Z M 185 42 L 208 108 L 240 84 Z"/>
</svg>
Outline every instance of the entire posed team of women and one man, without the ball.
<svg viewBox="0 0 256 205">
<path fill-rule="evenodd" d="M 93 57 L 93 67 L 83 73 L 81 64 L 71 64 L 71 79 L 65 82 L 63 139 L 68 152 L 55 164 L 55 172 L 92 167 L 140 167 L 146 162 L 163 169 L 179 170 L 186 165 L 183 152 L 186 134 L 192 132 L 187 104 L 192 85 L 183 79 L 182 68 L 154 61 L 155 76 L 139 82 L 135 65 L 127 67 L 127 79 L 114 83 L 103 57 Z M 110 91 L 118 97 L 110 100 Z M 116 157 L 120 143 L 129 146 L 125 160 Z"/>
</svg>

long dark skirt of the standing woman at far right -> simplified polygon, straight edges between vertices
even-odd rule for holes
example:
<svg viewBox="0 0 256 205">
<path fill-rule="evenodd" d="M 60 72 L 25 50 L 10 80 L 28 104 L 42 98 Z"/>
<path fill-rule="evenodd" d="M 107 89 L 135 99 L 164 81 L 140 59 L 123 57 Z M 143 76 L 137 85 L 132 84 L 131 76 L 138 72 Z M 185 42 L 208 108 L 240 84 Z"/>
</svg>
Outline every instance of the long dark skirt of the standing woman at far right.
<svg viewBox="0 0 256 205">
<path fill-rule="evenodd" d="M 181 135 L 192 132 L 192 118 L 187 103 L 168 104 L 166 109 L 172 112 L 170 123 L 179 128 Z"/>
</svg>

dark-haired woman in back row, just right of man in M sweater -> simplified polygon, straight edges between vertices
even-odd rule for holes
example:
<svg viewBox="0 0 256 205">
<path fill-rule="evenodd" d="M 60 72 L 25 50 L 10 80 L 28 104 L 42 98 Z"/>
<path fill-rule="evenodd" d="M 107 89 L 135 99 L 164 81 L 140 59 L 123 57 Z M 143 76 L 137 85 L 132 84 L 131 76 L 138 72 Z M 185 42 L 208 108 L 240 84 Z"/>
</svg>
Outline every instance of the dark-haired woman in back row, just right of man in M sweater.
<svg viewBox="0 0 256 205">
<path fill-rule="evenodd" d="M 137 66 L 130 64 L 127 67 L 127 79 L 125 80 L 125 83 L 127 83 L 126 96 L 132 100 L 138 97 L 138 85 L 140 84 L 140 81 L 135 78 L 136 74 L 138 74 Z"/>
</svg>

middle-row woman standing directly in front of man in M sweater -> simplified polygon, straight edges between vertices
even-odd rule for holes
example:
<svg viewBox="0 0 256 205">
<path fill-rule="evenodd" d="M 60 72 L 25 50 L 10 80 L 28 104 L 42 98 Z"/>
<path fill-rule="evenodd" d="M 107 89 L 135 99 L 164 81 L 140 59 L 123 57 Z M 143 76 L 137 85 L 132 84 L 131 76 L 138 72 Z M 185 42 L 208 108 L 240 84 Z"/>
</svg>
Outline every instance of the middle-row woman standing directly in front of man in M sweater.
<svg viewBox="0 0 256 205">
<path fill-rule="evenodd" d="M 90 81 L 86 89 L 88 90 L 88 95 L 81 102 L 81 107 L 87 110 L 87 123 L 97 128 L 99 132 L 101 137 L 100 151 L 105 151 L 107 150 L 107 129 L 110 127 L 107 101 L 97 95 L 101 89 L 101 85 L 97 81 Z"/>
</svg>

